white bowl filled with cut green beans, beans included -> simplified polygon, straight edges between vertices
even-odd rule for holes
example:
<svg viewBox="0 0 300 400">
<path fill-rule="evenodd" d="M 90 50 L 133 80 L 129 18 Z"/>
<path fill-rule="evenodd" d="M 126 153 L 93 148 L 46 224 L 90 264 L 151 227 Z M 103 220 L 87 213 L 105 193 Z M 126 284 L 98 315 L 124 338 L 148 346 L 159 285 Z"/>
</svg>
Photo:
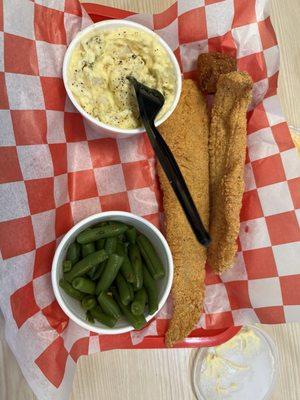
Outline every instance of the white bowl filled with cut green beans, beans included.
<svg viewBox="0 0 300 400">
<path fill-rule="evenodd" d="M 173 259 L 161 232 L 123 211 L 91 215 L 63 237 L 52 285 L 63 311 L 99 334 L 143 329 L 172 287 Z"/>
</svg>

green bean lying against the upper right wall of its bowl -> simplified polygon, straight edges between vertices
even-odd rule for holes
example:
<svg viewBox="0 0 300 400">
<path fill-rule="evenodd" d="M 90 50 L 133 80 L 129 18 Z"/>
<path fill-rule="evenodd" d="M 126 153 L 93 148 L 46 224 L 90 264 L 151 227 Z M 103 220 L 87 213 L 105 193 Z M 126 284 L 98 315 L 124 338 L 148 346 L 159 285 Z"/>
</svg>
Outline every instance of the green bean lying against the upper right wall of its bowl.
<svg viewBox="0 0 300 400">
<path fill-rule="evenodd" d="M 165 276 L 164 267 L 150 240 L 144 235 L 139 235 L 137 243 L 152 278 L 155 280 L 163 278 Z"/>
</svg>

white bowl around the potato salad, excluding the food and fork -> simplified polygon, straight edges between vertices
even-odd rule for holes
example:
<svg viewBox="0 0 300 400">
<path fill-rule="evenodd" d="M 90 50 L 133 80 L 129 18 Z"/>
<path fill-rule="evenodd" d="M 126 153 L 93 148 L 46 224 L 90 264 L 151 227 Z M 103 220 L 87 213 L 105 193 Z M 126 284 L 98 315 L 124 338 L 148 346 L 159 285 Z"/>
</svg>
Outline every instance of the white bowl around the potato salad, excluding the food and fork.
<svg viewBox="0 0 300 400">
<path fill-rule="evenodd" d="M 72 101 L 73 105 L 75 108 L 80 112 L 80 114 L 85 118 L 87 124 L 94 129 L 96 132 L 101 133 L 105 136 L 109 137 L 114 137 L 114 138 L 126 138 L 129 136 L 136 135 L 138 133 L 144 132 L 145 129 L 144 127 L 136 128 L 136 129 L 121 129 L 121 128 L 116 128 L 111 125 L 107 125 L 103 122 L 100 122 L 97 118 L 92 117 L 90 114 L 88 114 L 77 102 L 75 96 L 73 95 L 69 83 L 68 83 L 68 76 L 67 76 L 67 71 L 68 71 L 68 66 L 70 62 L 70 58 L 72 56 L 73 50 L 75 47 L 80 43 L 82 38 L 86 35 L 89 34 L 93 31 L 107 31 L 107 30 L 114 30 L 117 28 L 135 28 L 142 30 L 144 32 L 147 32 L 151 36 L 153 36 L 160 44 L 161 46 L 166 50 L 170 61 L 173 65 L 174 68 L 174 73 L 176 76 L 176 92 L 174 96 L 174 100 L 172 105 L 170 106 L 169 110 L 159 119 L 155 122 L 156 126 L 159 126 L 162 124 L 175 110 L 175 107 L 177 106 L 177 103 L 180 98 L 180 93 L 181 93 L 181 85 L 182 85 L 182 79 L 181 79 L 181 71 L 177 62 L 177 59 L 173 53 L 173 51 L 170 49 L 170 47 L 167 45 L 167 43 L 155 32 L 151 31 L 150 29 L 146 28 L 145 26 L 138 24 L 136 22 L 132 21 L 127 21 L 123 19 L 115 19 L 115 20 L 109 20 L 109 21 L 101 21 L 97 22 L 96 24 L 90 25 L 87 28 L 83 29 L 81 32 L 79 32 L 75 38 L 72 40 L 70 43 L 63 62 L 63 80 L 64 80 L 64 85 L 66 88 L 66 91 L 68 93 L 68 96 L 70 100 Z"/>
</svg>

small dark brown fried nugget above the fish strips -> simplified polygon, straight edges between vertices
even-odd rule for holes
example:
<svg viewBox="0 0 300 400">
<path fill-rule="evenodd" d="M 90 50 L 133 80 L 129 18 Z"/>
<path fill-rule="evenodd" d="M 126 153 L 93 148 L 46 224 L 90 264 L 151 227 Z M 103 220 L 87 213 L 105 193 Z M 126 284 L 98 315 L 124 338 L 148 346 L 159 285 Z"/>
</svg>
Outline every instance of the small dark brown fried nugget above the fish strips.
<svg viewBox="0 0 300 400">
<path fill-rule="evenodd" d="M 198 84 L 203 93 L 215 93 L 220 75 L 232 71 L 236 71 L 236 59 L 228 54 L 211 52 L 198 57 Z"/>
</svg>

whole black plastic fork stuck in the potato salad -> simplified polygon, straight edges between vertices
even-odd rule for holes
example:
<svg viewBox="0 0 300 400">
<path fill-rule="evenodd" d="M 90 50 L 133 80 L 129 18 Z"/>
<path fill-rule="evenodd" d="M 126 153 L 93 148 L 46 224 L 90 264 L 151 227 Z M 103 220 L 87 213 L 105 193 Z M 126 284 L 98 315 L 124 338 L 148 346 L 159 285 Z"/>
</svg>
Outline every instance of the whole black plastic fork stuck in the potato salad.
<svg viewBox="0 0 300 400">
<path fill-rule="evenodd" d="M 196 238 L 203 246 L 208 246 L 211 242 L 210 236 L 202 223 L 176 160 L 154 124 L 155 117 L 164 105 L 164 96 L 158 90 L 150 89 L 148 86 L 141 84 L 132 76 L 128 76 L 127 79 L 134 86 L 141 120 L 153 150 L 165 171 Z"/>
</svg>

